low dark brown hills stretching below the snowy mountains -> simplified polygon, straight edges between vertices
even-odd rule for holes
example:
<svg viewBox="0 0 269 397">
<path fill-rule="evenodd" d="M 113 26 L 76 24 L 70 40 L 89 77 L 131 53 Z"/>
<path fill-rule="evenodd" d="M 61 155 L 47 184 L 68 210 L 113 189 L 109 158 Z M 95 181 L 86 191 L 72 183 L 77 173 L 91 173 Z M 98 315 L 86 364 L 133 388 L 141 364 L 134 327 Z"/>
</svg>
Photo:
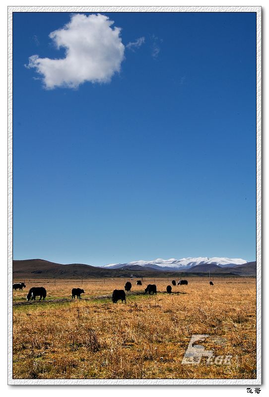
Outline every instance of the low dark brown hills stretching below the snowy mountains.
<svg viewBox="0 0 269 397">
<path fill-rule="evenodd" d="M 256 276 L 256 262 L 237 265 L 233 268 L 220 268 L 211 264 L 197 265 L 185 271 L 160 271 L 139 265 L 125 266 L 120 269 L 95 267 L 85 264 L 56 264 L 42 259 L 13 261 L 13 278 L 102 278 L 102 277 L 168 277 L 178 279 L 188 276 L 205 276 L 210 273 L 214 276 Z"/>
</svg>

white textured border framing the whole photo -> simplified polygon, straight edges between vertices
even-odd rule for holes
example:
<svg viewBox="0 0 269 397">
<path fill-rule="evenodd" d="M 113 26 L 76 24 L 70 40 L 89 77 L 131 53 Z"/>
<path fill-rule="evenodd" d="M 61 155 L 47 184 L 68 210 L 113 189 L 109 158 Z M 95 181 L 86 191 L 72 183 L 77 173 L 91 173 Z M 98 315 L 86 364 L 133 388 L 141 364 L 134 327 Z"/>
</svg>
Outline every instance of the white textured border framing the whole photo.
<svg viewBox="0 0 269 397">
<path fill-rule="evenodd" d="M 257 378 L 12 378 L 12 14 L 13 12 L 255 12 L 257 28 Z M 262 383 L 262 7 L 261 6 L 9 6 L 8 7 L 8 385 L 261 385 Z"/>
</svg>

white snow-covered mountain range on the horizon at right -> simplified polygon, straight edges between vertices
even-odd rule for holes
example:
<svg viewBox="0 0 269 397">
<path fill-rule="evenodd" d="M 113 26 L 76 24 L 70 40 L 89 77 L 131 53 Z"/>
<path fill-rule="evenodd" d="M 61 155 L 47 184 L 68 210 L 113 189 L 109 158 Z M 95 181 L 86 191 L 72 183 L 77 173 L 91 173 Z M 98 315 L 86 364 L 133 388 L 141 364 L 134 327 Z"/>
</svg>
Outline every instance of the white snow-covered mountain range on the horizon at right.
<svg viewBox="0 0 269 397">
<path fill-rule="evenodd" d="M 244 265 L 247 261 L 240 258 L 183 258 L 183 259 L 175 259 L 171 258 L 168 260 L 165 259 L 155 259 L 154 261 L 135 261 L 129 262 L 125 264 L 108 264 L 103 267 L 110 267 L 114 269 L 139 265 L 143 267 L 151 267 L 158 270 L 181 270 L 181 269 L 189 269 L 193 266 L 197 265 L 217 265 L 219 267 L 233 267 L 236 265 Z"/>
</svg>

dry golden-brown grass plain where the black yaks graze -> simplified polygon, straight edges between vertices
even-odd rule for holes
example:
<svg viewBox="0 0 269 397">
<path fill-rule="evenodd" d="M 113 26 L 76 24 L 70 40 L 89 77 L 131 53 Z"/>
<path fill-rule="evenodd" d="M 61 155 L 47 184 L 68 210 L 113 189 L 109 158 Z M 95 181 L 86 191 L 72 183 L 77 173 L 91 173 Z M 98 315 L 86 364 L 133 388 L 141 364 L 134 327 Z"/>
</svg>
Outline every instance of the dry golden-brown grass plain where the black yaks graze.
<svg viewBox="0 0 269 397">
<path fill-rule="evenodd" d="M 14 300 L 25 301 L 34 285 L 45 286 L 46 299 L 70 298 L 72 287 L 82 287 L 84 298 L 124 288 L 124 279 L 48 281 L 25 280 L 26 291 L 14 292 Z M 132 292 L 146 286 L 132 284 Z M 156 278 L 155 284 L 165 291 L 168 282 Z M 256 280 L 215 279 L 210 287 L 207 279 L 189 278 L 173 291 L 182 293 L 127 293 L 126 305 L 81 299 L 14 307 L 13 378 L 254 379 Z M 192 334 L 226 338 L 225 346 L 203 344 L 215 355 L 232 355 L 231 365 L 206 365 L 205 358 L 182 365 Z"/>
</svg>

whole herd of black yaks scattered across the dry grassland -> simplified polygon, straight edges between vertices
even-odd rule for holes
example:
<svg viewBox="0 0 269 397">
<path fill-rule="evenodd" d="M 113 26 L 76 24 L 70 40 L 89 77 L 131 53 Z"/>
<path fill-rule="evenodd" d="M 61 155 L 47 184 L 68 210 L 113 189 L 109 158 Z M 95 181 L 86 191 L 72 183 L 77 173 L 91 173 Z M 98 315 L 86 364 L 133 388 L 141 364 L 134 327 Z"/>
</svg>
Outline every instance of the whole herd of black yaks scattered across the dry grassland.
<svg viewBox="0 0 269 397">
<path fill-rule="evenodd" d="M 188 281 L 187 280 L 179 280 L 178 283 L 176 283 L 175 280 L 172 280 L 172 285 L 188 285 Z M 141 280 L 136 281 L 136 285 L 142 285 Z M 212 281 L 209 281 L 209 285 L 214 285 Z M 13 289 L 16 291 L 17 289 L 19 289 L 19 291 L 22 291 L 23 288 L 26 288 L 26 285 L 23 282 L 20 283 L 16 283 L 13 284 Z M 123 289 L 114 289 L 113 293 L 112 293 L 112 302 L 113 303 L 117 303 L 119 300 L 125 301 L 126 303 L 126 294 L 125 291 L 127 292 L 131 292 L 131 288 L 132 288 L 132 284 L 130 281 L 127 281 L 127 283 L 124 286 L 124 290 Z M 172 292 L 172 287 L 171 285 L 167 285 L 166 287 L 166 292 L 168 294 L 171 294 Z M 85 293 L 84 289 L 81 288 L 73 288 L 72 289 L 72 299 L 75 299 L 75 297 L 77 297 L 77 299 L 81 299 L 81 294 Z M 157 287 L 155 284 L 148 284 L 147 287 L 145 288 L 145 294 L 149 294 L 149 295 L 156 295 L 157 294 Z M 27 301 L 29 300 L 36 300 L 36 297 L 39 296 L 39 300 L 41 300 L 43 298 L 43 300 L 46 298 L 47 296 L 47 291 L 44 287 L 32 287 L 28 294 L 26 295 L 26 299 Z"/>
</svg>

